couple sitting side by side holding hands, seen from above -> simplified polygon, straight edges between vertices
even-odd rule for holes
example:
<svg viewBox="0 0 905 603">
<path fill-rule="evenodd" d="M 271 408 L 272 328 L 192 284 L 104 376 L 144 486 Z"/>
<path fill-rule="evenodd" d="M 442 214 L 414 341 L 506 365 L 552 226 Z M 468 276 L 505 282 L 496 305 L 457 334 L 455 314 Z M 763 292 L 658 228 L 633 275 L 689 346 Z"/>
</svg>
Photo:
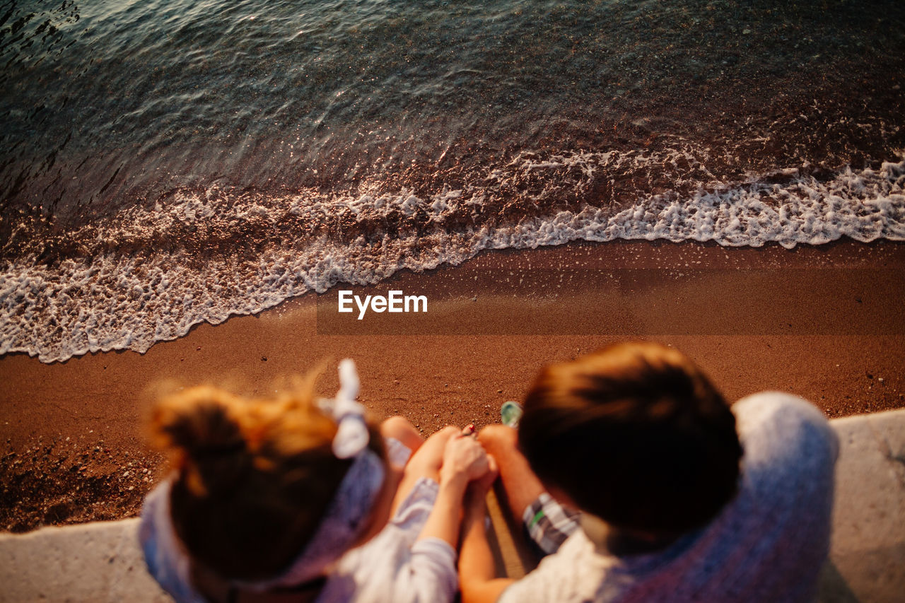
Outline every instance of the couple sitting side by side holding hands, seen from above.
<svg viewBox="0 0 905 603">
<path fill-rule="evenodd" d="M 340 383 L 331 401 L 193 388 L 157 405 L 175 471 L 139 536 L 177 601 L 446 603 L 460 583 L 464 603 L 814 597 L 837 444 L 800 398 L 730 408 L 679 352 L 629 343 L 541 370 L 518 430 L 423 442 L 400 417 L 365 422 L 348 361 Z M 494 576 L 485 534 L 498 474 L 547 554 L 518 581 Z"/>
</svg>

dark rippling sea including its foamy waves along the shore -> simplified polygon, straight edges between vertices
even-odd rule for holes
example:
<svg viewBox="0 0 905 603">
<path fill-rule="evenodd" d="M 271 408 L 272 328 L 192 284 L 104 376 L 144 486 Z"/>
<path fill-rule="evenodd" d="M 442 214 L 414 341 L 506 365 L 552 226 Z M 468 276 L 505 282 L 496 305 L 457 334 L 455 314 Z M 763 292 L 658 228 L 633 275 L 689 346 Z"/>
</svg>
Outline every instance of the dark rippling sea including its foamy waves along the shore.
<svg viewBox="0 0 905 603">
<path fill-rule="evenodd" d="M 905 3 L 0 4 L 0 353 L 573 239 L 905 238 Z"/>
</svg>

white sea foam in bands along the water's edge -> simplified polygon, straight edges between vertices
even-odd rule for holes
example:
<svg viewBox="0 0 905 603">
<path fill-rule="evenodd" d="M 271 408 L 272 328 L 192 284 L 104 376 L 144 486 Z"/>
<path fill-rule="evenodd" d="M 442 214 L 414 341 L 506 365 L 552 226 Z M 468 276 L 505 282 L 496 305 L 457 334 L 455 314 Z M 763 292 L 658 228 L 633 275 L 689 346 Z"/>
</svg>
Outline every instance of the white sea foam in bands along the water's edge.
<svg viewBox="0 0 905 603">
<path fill-rule="evenodd" d="M 615 208 L 576 207 L 515 224 L 452 231 L 438 226 L 428 235 L 403 229 L 401 235 L 358 236 L 347 242 L 318 235 L 313 227 L 346 210 L 357 220 L 424 212 L 440 225 L 454 211 L 481 206 L 494 183 L 538 170 L 561 172 L 570 186 L 581 189 L 616 167 L 668 169 L 681 161 L 698 167 L 694 192 L 669 191 Z M 770 183 L 776 178 L 752 177 L 721 185 L 701 180 L 701 174 L 707 177 L 700 163 L 681 152 L 574 153 L 521 157 L 491 170 L 480 185 L 426 199 L 409 191 L 339 198 L 308 192 L 228 201 L 216 190 L 182 194 L 153 210 L 133 209 L 115 225 L 91 226 L 96 232 L 90 235 L 111 242 L 142 240 L 148 233 L 214 219 L 237 228 L 254 220 L 276 225 L 287 216 L 312 227 L 286 249 L 262 252 L 253 260 L 222 257 L 197 266 L 183 251 L 141 259 L 95 254 L 89 261 L 64 260 L 54 267 L 34 258 L 6 262 L 0 265 L 0 353 L 27 352 L 52 362 L 98 350 L 144 352 L 157 341 L 185 335 L 201 321 L 218 323 L 233 314 L 262 311 L 338 282 L 367 284 L 403 268 L 422 271 L 462 263 L 485 249 L 614 239 L 691 239 L 734 246 L 776 242 L 787 248 L 842 236 L 862 242 L 905 240 L 905 160 L 884 163 L 876 171 L 845 169 L 826 181 L 792 170 L 781 175 L 782 184 Z"/>
</svg>

